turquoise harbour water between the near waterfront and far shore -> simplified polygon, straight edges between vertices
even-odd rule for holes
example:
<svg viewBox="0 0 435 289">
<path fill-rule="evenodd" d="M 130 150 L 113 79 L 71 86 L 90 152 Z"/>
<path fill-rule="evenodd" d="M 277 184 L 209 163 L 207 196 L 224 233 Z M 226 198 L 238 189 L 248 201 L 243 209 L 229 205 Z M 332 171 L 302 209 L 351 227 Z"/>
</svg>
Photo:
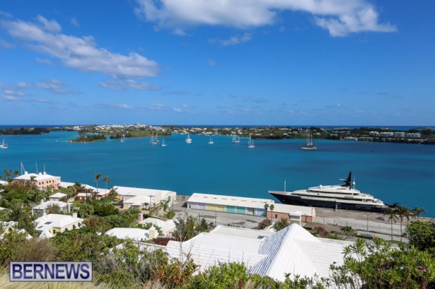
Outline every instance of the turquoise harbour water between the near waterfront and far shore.
<svg viewBox="0 0 435 289">
<path fill-rule="evenodd" d="M 93 173 L 112 179 L 112 185 L 246 197 L 273 198 L 268 190 L 299 190 L 314 185 L 337 184 L 349 171 L 356 189 L 387 204 L 399 202 L 424 207 L 435 216 L 435 146 L 357 141 L 316 141 L 318 150 L 304 151 L 304 140 L 247 139 L 233 144 L 231 136 L 185 135 L 166 137 L 168 146 L 151 146 L 149 139 L 69 143 L 75 132 L 51 132 L 37 136 L 5 136 L 8 150 L 0 150 L 0 170 L 27 171 L 46 165 L 48 174 L 62 181 L 94 185 Z M 2 141 L 0 137 L 0 141 Z M 104 183 L 100 181 L 100 188 Z"/>
</svg>

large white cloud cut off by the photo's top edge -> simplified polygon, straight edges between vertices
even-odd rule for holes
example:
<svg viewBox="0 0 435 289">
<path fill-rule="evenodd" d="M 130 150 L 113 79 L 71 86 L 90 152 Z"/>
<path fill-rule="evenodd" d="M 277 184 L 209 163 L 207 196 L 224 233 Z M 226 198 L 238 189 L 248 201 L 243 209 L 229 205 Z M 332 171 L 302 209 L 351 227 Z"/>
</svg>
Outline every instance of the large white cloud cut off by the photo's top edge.
<svg viewBox="0 0 435 289">
<path fill-rule="evenodd" d="M 274 24 L 284 10 L 309 13 L 331 36 L 360 31 L 396 31 L 380 23 L 368 0 L 136 0 L 138 17 L 159 27 L 192 27 L 202 24 L 246 29 Z"/>
</svg>

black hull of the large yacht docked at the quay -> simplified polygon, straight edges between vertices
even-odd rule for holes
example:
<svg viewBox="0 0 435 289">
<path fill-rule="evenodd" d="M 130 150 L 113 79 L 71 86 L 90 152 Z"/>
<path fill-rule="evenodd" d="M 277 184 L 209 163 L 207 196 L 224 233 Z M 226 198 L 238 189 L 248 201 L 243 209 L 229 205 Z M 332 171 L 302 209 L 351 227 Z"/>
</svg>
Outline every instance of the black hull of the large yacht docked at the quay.
<svg viewBox="0 0 435 289">
<path fill-rule="evenodd" d="M 368 212 L 376 212 L 383 213 L 389 209 L 388 206 L 364 206 L 359 204 L 343 204 L 340 202 L 328 202 L 321 200 L 307 200 L 302 199 L 300 196 L 292 196 L 292 195 L 281 195 L 270 192 L 271 195 L 279 199 L 279 201 L 283 204 L 291 204 L 297 206 L 316 206 L 321 208 L 331 208 L 331 209 L 342 209 L 342 210 L 354 210 L 354 211 L 368 211 Z"/>
</svg>

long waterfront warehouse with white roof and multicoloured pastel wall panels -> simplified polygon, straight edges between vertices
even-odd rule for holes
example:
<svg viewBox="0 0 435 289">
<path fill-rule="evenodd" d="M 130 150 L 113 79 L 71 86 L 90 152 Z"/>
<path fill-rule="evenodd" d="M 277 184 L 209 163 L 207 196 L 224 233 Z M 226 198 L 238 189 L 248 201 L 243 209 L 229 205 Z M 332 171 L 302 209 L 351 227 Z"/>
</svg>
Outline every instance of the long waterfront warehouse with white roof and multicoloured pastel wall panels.
<svg viewBox="0 0 435 289">
<path fill-rule="evenodd" d="M 234 197 L 225 195 L 194 194 L 187 200 L 187 208 L 244 215 L 266 216 L 265 204 L 274 204 L 272 199 Z"/>
</svg>

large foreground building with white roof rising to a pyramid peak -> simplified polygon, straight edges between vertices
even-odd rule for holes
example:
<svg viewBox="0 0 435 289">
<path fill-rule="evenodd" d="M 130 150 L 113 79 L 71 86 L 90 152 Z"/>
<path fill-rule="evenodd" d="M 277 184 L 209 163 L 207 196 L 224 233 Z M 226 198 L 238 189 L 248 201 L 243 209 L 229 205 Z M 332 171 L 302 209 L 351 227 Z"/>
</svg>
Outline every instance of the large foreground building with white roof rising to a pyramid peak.
<svg viewBox="0 0 435 289">
<path fill-rule="evenodd" d="M 328 277 L 330 265 L 343 264 L 345 246 L 352 242 L 316 238 L 297 224 L 276 232 L 217 226 L 184 241 L 169 241 L 171 258 L 188 256 L 200 272 L 221 262 L 244 262 L 249 272 L 284 281 L 293 276 Z"/>
</svg>

